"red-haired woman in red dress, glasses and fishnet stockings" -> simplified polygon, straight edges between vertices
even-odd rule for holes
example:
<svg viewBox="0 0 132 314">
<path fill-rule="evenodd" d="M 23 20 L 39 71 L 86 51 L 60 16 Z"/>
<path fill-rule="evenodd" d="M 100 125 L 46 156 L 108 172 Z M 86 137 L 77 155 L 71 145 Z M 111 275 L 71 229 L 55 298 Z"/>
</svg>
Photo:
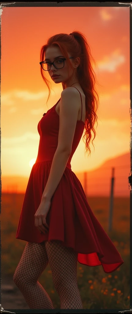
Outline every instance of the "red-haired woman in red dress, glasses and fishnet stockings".
<svg viewBox="0 0 132 314">
<path fill-rule="evenodd" d="M 70 164 L 84 127 L 86 151 L 90 151 L 91 130 L 95 137 L 99 97 L 94 88 L 94 59 L 85 36 L 77 31 L 49 38 L 40 57 L 41 74 L 48 89 L 46 73 L 56 84 L 62 83 L 63 91 L 38 123 L 38 156 L 16 234 L 16 239 L 27 244 L 13 279 L 30 309 L 53 309 L 38 282 L 49 262 L 60 308 L 83 309 L 77 261 L 88 266 L 102 265 L 105 273 L 114 272 L 124 263 L 94 216 Z"/>
</svg>

